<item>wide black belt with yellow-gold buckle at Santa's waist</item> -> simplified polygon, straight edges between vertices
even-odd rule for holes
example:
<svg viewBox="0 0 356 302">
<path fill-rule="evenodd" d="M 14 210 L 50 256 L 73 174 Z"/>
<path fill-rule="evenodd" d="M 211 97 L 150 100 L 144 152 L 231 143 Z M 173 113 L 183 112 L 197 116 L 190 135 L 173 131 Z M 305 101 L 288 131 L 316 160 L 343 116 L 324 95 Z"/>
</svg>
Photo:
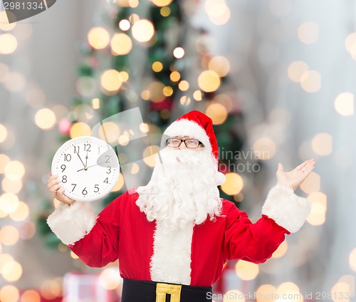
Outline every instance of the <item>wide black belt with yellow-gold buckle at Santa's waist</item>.
<svg viewBox="0 0 356 302">
<path fill-rule="evenodd" d="M 121 302 L 211 302 L 211 286 L 124 279 Z"/>
</svg>

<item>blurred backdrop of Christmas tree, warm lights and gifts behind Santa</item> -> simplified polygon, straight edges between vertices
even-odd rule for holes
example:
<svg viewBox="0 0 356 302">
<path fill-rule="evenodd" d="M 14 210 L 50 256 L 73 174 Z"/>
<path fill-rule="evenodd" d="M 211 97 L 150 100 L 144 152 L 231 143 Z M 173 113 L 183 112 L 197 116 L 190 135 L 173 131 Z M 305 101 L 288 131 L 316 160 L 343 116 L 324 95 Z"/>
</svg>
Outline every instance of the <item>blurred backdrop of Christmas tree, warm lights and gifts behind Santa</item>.
<svg viewBox="0 0 356 302">
<path fill-rule="evenodd" d="M 0 7 L 1 302 L 120 301 L 117 264 L 89 269 L 48 229 L 46 179 L 63 142 L 130 109 L 149 139 L 209 115 L 221 197 L 253 221 L 278 162 L 316 159 L 295 192 L 313 202 L 305 226 L 265 264 L 227 263 L 214 301 L 356 301 L 354 1 L 62 0 L 12 24 Z M 139 184 L 153 141 L 127 162 Z"/>
</svg>

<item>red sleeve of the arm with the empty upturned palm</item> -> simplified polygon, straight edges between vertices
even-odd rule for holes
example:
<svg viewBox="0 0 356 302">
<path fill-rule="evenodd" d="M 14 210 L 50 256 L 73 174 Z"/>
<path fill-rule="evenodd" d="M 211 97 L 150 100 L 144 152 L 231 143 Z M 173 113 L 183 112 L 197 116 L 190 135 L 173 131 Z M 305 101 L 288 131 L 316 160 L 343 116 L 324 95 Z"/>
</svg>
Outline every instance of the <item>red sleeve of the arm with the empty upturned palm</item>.
<svg viewBox="0 0 356 302">
<path fill-rule="evenodd" d="M 273 219 L 262 215 L 253 224 L 245 212 L 227 202 L 226 227 L 224 232 L 224 256 L 228 260 L 242 259 L 256 264 L 270 258 L 284 241 L 289 231 L 280 227 Z"/>
</svg>

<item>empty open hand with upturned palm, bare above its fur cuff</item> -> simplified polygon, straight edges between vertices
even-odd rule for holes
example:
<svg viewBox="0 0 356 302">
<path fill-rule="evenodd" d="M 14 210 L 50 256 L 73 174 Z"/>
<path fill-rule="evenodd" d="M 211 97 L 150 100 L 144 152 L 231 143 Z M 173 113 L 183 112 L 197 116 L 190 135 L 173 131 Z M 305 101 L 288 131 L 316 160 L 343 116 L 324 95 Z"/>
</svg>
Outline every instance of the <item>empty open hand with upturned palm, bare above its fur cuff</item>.
<svg viewBox="0 0 356 302">
<path fill-rule="evenodd" d="M 302 164 L 295 167 L 292 171 L 284 171 L 283 165 L 278 164 L 278 171 L 276 176 L 278 179 L 278 184 L 281 184 L 292 189 L 296 189 L 304 181 L 306 177 L 314 170 L 315 160 L 305 160 Z"/>
</svg>

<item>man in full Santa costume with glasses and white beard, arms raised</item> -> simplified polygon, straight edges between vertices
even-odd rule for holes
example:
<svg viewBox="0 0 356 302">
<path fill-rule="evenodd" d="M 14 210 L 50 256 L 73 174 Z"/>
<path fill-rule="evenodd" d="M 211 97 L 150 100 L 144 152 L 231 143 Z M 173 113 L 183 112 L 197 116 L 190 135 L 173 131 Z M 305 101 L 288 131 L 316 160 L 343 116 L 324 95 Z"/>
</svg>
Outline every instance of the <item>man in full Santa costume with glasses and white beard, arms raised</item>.
<svg viewBox="0 0 356 302">
<path fill-rule="evenodd" d="M 166 136 L 167 135 L 167 136 Z M 56 175 L 48 189 L 61 204 L 48 224 L 88 266 L 119 261 L 122 302 L 211 301 L 211 286 L 227 260 L 259 264 L 286 234 L 298 231 L 310 202 L 293 189 L 314 169 L 308 160 L 293 171 L 278 165 L 278 184 L 262 216 L 251 223 L 234 203 L 219 197 L 218 145 L 212 122 L 199 111 L 164 132 L 150 182 L 113 200 L 95 215 L 89 203 L 66 197 Z M 170 300 L 169 300 L 170 297 Z"/>
</svg>

